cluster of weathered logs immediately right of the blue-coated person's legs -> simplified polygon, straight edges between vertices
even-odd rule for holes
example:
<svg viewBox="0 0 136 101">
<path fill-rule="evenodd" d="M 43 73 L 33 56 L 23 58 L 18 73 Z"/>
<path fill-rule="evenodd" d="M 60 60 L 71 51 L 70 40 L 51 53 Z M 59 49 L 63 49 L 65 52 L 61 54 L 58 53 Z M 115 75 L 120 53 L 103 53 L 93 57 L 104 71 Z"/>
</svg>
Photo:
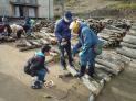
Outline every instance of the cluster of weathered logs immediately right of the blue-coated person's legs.
<svg viewBox="0 0 136 101">
<path fill-rule="evenodd" d="M 122 56 L 115 52 L 104 50 L 102 55 L 97 56 L 96 63 L 101 66 L 98 68 L 104 69 L 113 75 L 118 75 L 124 70 L 125 63 L 122 59 Z"/>
</svg>

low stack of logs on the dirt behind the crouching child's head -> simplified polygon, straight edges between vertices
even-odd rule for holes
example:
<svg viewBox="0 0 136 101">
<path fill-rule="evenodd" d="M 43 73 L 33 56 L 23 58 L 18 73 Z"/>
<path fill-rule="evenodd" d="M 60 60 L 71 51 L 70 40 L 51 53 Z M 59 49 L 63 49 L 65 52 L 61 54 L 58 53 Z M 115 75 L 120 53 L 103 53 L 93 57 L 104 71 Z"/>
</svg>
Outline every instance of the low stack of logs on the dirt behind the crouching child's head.
<svg viewBox="0 0 136 101">
<path fill-rule="evenodd" d="M 40 48 L 42 45 L 56 45 L 56 40 L 53 33 L 45 33 L 41 31 L 39 33 L 33 33 L 30 37 L 24 37 L 17 41 L 17 47 L 19 50 L 28 50 L 33 48 Z"/>
</svg>

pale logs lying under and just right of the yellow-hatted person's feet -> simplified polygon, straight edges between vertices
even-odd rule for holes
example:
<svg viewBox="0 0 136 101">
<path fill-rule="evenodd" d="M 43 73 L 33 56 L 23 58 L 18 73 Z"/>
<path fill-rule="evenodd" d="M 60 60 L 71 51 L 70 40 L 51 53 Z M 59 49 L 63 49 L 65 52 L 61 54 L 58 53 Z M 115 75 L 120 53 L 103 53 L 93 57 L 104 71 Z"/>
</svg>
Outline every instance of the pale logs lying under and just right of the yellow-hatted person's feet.
<svg viewBox="0 0 136 101">
<path fill-rule="evenodd" d="M 122 59 L 121 55 L 113 50 L 104 50 L 102 55 L 96 57 L 94 77 L 85 74 L 81 81 L 88 88 L 91 96 L 95 98 L 102 91 L 106 82 L 109 82 L 112 77 L 119 75 L 124 70 L 126 63 Z M 74 68 L 67 66 L 67 70 L 76 76 L 80 69 L 79 57 L 74 58 Z"/>
</svg>

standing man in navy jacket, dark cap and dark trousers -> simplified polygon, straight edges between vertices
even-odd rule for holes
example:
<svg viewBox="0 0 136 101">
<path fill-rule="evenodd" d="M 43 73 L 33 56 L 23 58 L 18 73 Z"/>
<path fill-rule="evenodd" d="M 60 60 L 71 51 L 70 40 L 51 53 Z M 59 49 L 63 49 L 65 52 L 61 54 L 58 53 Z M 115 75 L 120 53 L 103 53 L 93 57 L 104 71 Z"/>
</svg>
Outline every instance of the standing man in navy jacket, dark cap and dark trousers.
<svg viewBox="0 0 136 101">
<path fill-rule="evenodd" d="M 63 69 L 66 69 L 66 63 L 64 58 L 65 50 L 69 57 L 69 64 L 70 66 L 73 66 L 72 55 L 71 55 L 71 30 L 70 30 L 71 22 L 72 22 L 72 14 L 70 11 L 66 11 L 64 13 L 64 16 L 56 22 L 55 31 L 54 31 L 59 43 L 59 48 L 61 54 L 61 65 Z"/>
</svg>

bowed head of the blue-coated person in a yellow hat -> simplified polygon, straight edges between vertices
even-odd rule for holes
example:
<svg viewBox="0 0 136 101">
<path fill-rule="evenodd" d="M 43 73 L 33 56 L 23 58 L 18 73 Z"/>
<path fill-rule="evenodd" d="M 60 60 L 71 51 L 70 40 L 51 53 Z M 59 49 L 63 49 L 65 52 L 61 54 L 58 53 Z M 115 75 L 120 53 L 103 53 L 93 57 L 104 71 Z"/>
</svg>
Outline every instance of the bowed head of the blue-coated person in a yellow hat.
<svg viewBox="0 0 136 101">
<path fill-rule="evenodd" d="M 70 30 L 72 34 L 79 34 L 80 23 L 77 21 L 73 21 L 70 24 Z"/>
</svg>

